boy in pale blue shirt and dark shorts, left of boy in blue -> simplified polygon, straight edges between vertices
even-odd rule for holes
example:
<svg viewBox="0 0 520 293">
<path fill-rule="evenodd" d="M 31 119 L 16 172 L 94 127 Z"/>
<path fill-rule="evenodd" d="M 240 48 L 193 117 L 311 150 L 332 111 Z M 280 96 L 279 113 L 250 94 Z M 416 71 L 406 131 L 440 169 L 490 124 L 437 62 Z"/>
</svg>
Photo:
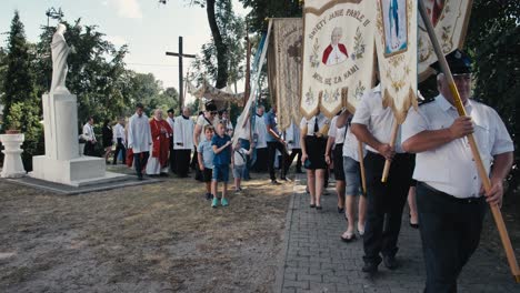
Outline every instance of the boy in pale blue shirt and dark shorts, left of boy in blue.
<svg viewBox="0 0 520 293">
<path fill-rule="evenodd" d="M 202 180 L 206 183 L 206 199 L 211 200 L 213 199 L 213 194 L 211 193 L 211 178 L 213 174 L 213 148 L 211 145 L 211 139 L 213 138 L 213 127 L 206 125 L 204 127 L 204 141 L 199 143 L 199 148 L 197 149 L 197 156 L 199 161 L 199 170 L 202 172 Z"/>
</svg>

